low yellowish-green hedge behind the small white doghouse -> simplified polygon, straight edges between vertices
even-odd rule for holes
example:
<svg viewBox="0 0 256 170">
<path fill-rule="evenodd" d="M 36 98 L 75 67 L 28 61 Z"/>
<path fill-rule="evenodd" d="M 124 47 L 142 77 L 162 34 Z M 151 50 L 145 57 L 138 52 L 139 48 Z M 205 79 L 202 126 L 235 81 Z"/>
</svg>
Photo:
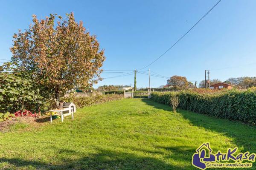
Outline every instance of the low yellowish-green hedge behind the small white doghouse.
<svg viewBox="0 0 256 170">
<path fill-rule="evenodd" d="M 84 108 L 85 106 L 119 100 L 122 98 L 124 98 L 123 94 L 96 94 L 91 96 L 75 96 L 74 94 L 70 94 L 70 96 L 65 97 L 63 101 L 73 102 L 77 108 Z"/>
</svg>

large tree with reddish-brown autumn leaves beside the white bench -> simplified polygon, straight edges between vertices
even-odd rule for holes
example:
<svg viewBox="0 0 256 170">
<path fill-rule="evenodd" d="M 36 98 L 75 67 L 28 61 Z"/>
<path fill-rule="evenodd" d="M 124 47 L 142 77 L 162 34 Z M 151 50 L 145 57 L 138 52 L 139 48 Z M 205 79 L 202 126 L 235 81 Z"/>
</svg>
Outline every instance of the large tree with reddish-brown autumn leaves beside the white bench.
<svg viewBox="0 0 256 170">
<path fill-rule="evenodd" d="M 56 108 L 60 96 L 68 89 L 86 89 L 102 78 L 105 61 L 96 36 L 91 36 L 74 14 L 62 19 L 50 14 L 44 20 L 33 15 L 33 24 L 24 32 L 14 34 L 12 61 L 32 73 L 34 81 L 52 91 Z"/>
</svg>

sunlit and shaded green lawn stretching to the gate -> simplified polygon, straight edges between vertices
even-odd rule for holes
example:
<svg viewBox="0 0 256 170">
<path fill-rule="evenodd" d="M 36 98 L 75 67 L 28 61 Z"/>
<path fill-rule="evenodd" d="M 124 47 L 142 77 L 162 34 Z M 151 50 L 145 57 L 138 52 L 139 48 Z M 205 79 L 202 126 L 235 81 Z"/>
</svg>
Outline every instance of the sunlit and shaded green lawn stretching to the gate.
<svg viewBox="0 0 256 170">
<path fill-rule="evenodd" d="M 214 151 L 256 152 L 255 127 L 177 112 L 150 99 L 122 99 L 79 109 L 63 123 L 15 125 L 0 133 L 0 169 L 192 170 L 203 142 Z"/>
</svg>

